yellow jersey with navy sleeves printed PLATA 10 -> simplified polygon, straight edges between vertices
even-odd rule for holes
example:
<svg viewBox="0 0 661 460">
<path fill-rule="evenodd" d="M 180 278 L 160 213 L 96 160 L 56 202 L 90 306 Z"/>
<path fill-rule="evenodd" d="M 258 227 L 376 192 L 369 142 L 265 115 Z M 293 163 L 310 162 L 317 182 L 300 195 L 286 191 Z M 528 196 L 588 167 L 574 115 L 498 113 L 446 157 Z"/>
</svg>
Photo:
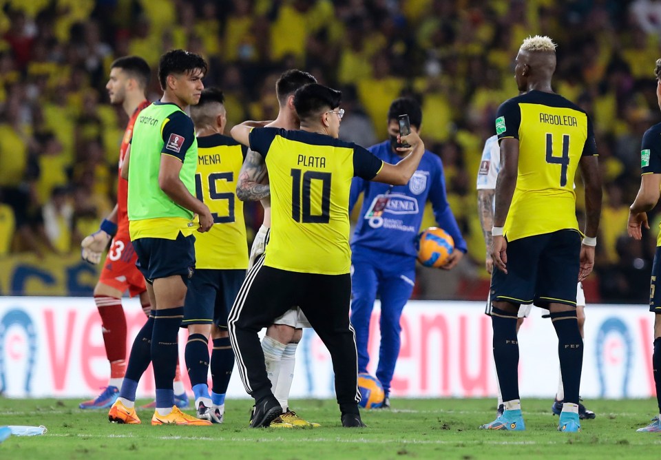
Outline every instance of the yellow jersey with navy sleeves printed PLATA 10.
<svg viewBox="0 0 661 460">
<path fill-rule="evenodd" d="M 266 161 L 271 236 L 264 265 L 322 275 L 349 273 L 349 190 L 354 176 L 373 179 L 384 162 L 368 150 L 326 136 L 254 128 L 250 148 Z"/>
</svg>

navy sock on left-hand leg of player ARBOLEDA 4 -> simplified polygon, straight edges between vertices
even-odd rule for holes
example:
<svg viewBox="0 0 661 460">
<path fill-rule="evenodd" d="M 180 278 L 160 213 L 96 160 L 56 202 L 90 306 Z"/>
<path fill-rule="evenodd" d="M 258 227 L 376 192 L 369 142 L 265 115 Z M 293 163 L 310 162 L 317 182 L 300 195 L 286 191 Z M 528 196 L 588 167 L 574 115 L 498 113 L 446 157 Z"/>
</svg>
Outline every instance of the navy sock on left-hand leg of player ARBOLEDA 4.
<svg viewBox="0 0 661 460">
<path fill-rule="evenodd" d="M 516 313 L 497 309 L 491 311 L 494 328 L 494 362 L 501 384 L 503 401 L 518 397 L 518 339 L 516 339 Z"/>
</svg>

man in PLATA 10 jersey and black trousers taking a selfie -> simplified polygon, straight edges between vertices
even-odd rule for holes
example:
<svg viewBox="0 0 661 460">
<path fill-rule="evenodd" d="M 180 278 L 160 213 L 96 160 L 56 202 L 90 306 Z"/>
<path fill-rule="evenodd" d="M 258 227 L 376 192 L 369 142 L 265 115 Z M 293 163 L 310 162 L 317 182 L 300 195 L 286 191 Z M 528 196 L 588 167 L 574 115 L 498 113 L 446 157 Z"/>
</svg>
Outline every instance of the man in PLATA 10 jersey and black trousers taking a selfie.
<svg viewBox="0 0 661 460">
<path fill-rule="evenodd" d="M 364 426 L 358 410 L 355 335 L 349 322 L 351 293 L 349 189 L 353 176 L 392 185 L 411 178 L 424 153 L 415 133 L 402 136 L 411 153 L 397 165 L 339 140 L 342 94 L 316 83 L 294 96 L 300 130 L 245 122 L 232 137 L 266 160 L 271 189 L 269 247 L 248 271 L 228 326 L 240 377 L 255 398 L 251 426 L 269 426 L 282 413 L 271 392 L 258 331 L 299 305 L 333 360 L 342 426 Z"/>
</svg>

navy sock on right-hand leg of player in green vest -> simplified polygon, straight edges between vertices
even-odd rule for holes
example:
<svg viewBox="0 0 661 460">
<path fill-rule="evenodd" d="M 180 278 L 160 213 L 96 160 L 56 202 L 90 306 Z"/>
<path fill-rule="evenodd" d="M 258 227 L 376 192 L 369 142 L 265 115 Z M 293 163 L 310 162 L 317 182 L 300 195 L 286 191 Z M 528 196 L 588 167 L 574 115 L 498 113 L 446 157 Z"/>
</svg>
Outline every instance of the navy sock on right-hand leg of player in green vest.
<svg viewBox="0 0 661 460">
<path fill-rule="evenodd" d="M 154 311 L 154 332 L 151 335 L 151 361 L 154 363 L 156 407 L 174 406 L 172 381 L 177 368 L 179 326 L 184 307 Z M 159 391 L 165 390 L 165 391 Z"/>
</svg>

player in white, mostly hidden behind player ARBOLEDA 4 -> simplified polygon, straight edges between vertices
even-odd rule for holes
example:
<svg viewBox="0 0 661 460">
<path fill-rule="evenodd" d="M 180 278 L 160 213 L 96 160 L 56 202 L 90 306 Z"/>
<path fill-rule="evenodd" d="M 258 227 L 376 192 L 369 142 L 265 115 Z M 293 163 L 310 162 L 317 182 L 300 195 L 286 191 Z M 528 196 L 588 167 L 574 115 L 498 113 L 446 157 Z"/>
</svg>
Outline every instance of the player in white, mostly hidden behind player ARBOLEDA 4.
<svg viewBox="0 0 661 460">
<path fill-rule="evenodd" d="M 480 169 L 477 174 L 477 209 L 482 223 L 482 230 L 484 234 L 484 242 L 487 247 L 487 256 L 485 260 L 485 267 L 487 272 L 491 275 L 494 268 L 494 261 L 489 253 L 492 244 L 491 229 L 494 227 L 494 196 L 496 194 L 496 178 L 501 170 L 501 149 L 498 145 L 498 136 L 491 136 L 484 143 L 482 151 L 482 160 L 480 162 Z M 487 309 L 485 313 L 490 315 L 491 302 L 487 300 Z M 523 324 L 523 319 L 527 318 L 532 311 L 532 304 L 521 305 L 518 309 L 518 320 L 516 322 L 516 333 Z M 585 324 L 585 293 L 583 293 L 583 284 L 578 282 L 576 286 L 576 317 L 578 320 L 578 328 L 580 336 L 583 335 L 583 326 Z M 501 386 L 498 383 L 498 376 L 496 375 L 496 388 L 498 389 L 498 415 L 503 413 L 505 406 L 503 406 L 503 395 L 501 395 Z M 555 415 L 560 415 L 563 410 L 563 403 L 565 399 L 565 388 L 563 387 L 562 373 L 558 375 L 558 391 L 556 398 L 551 406 L 551 411 Z M 595 414 L 578 403 L 578 417 L 580 419 L 594 419 Z"/>
</svg>

